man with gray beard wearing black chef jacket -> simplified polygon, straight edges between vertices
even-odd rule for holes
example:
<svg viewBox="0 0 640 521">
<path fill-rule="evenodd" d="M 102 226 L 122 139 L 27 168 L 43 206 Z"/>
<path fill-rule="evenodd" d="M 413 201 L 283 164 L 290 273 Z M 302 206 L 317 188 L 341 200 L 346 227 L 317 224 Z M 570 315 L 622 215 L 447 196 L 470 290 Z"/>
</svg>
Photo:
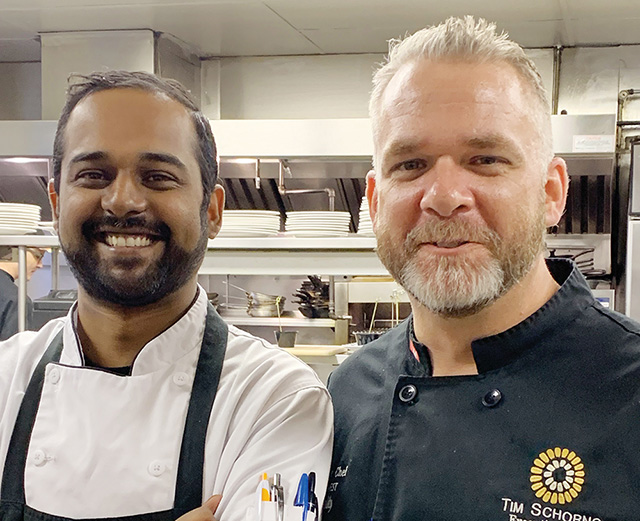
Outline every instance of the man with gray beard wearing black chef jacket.
<svg viewBox="0 0 640 521">
<path fill-rule="evenodd" d="M 412 315 L 331 375 L 323 520 L 637 519 L 640 326 L 545 260 L 568 177 L 534 64 L 451 18 L 373 83 L 367 196 Z"/>
</svg>

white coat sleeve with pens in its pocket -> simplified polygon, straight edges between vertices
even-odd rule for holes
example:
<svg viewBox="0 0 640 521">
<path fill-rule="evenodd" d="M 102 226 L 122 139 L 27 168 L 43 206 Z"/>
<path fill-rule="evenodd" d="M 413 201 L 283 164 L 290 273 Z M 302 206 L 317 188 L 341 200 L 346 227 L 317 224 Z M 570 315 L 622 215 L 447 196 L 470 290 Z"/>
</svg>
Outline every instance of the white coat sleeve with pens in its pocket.
<svg viewBox="0 0 640 521">
<path fill-rule="evenodd" d="M 247 418 L 249 420 L 249 418 Z M 260 475 L 282 477 L 285 503 L 292 505 L 302 473 L 316 473 L 316 495 L 322 508 L 333 444 L 333 406 L 326 389 L 309 386 L 270 405 L 259 417 L 233 463 L 216 512 L 219 521 L 245 521 L 257 504 Z M 215 426 L 215 421 L 213 422 Z M 214 427 L 215 428 L 215 427 Z"/>
</svg>

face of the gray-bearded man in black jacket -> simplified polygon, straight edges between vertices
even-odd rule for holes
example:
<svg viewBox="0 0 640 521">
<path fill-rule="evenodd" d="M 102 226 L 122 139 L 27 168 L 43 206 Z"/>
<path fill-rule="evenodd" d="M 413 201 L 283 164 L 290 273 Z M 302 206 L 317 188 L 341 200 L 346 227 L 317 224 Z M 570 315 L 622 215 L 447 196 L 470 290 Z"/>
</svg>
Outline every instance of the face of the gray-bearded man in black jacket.
<svg viewBox="0 0 640 521">
<path fill-rule="evenodd" d="M 378 254 L 428 310 L 476 313 L 542 255 L 564 204 L 548 179 L 566 173 L 545 161 L 536 103 L 506 63 L 423 60 L 387 86 L 367 189 Z"/>
</svg>

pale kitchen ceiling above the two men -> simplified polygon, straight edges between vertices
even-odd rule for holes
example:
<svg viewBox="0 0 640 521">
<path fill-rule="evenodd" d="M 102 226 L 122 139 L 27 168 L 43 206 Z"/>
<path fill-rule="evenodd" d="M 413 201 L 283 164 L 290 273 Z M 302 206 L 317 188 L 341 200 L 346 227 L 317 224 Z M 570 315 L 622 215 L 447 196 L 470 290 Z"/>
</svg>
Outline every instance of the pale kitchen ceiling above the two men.
<svg viewBox="0 0 640 521">
<path fill-rule="evenodd" d="M 145 28 L 202 57 L 383 53 L 464 14 L 525 47 L 640 43 L 638 0 L 0 0 L 0 62 L 39 61 L 42 32 Z"/>
</svg>

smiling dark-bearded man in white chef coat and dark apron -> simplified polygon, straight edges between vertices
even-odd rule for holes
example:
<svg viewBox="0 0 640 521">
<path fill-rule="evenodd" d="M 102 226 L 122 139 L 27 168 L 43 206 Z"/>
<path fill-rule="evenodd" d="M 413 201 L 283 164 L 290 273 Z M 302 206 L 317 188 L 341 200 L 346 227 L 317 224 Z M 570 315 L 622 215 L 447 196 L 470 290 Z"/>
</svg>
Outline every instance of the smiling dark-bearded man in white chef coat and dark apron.
<svg viewBox="0 0 640 521">
<path fill-rule="evenodd" d="M 326 389 L 227 326 L 197 284 L 224 192 L 185 89 L 146 73 L 81 77 L 53 162 L 78 301 L 0 345 L 0 519 L 244 521 L 262 472 L 291 491 L 313 470 L 322 489 Z"/>
</svg>

